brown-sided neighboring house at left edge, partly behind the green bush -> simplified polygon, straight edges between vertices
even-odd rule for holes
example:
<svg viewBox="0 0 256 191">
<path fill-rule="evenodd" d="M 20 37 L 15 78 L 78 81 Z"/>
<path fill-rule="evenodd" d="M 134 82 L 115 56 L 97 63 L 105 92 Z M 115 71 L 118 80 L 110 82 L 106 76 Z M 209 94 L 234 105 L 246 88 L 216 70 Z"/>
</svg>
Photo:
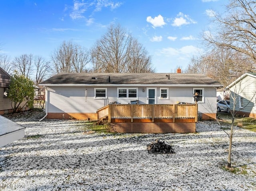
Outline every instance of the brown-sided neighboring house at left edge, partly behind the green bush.
<svg viewBox="0 0 256 191">
<path fill-rule="evenodd" d="M 7 90 L 10 85 L 10 78 L 11 76 L 0 67 L 0 115 L 12 112 L 12 102 L 7 98 Z M 24 104 L 25 102 L 23 105 Z M 28 109 L 28 107 L 23 108 L 23 110 Z"/>
</svg>

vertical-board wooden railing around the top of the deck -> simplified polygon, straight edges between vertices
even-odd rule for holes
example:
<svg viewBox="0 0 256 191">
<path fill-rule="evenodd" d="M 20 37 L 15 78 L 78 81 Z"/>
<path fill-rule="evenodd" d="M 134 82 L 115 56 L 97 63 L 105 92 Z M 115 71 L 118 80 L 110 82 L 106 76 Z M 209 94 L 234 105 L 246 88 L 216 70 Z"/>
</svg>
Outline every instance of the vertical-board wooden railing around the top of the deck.
<svg viewBox="0 0 256 191">
<path fill-rule="evenodd" d="M 98 118 L 112 119 L 193 119 L 197 122 L 197 104 L 109 104 L 98 110 Z M 190 120 L 191 121 L 191 120 Z"/>
</svg>

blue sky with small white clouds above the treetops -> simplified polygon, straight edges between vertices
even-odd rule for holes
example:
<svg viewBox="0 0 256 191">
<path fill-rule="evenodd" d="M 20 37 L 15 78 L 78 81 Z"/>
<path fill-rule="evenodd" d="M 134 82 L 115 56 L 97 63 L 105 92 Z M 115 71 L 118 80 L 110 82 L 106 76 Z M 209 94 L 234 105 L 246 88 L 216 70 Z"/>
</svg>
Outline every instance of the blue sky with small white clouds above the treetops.
<svg viewBox="0 0 256 191">
<path fill-rule="evenodd" d="M 186 69 L 205 51 L 200 35 L 228 0 L 1 0 L 1 53 L 51 53 L 65 40 L 90 49 L 110 24 L 120 24 L 152 56 L 158 73 Z"/>
</svg>

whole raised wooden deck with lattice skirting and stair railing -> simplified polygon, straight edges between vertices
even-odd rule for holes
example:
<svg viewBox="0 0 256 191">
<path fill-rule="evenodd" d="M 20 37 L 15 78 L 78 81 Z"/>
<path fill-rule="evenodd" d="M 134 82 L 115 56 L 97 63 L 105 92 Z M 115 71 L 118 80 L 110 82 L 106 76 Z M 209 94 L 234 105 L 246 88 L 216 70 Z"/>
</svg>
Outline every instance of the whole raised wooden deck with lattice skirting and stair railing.
<svg viewBox="0 0 256 191">
<path fill-rule="evenodd" d="M 197 104 L 109 104 L 97 113 L 122 133 L 196 132 L 198 120 Z"/>
</svg>

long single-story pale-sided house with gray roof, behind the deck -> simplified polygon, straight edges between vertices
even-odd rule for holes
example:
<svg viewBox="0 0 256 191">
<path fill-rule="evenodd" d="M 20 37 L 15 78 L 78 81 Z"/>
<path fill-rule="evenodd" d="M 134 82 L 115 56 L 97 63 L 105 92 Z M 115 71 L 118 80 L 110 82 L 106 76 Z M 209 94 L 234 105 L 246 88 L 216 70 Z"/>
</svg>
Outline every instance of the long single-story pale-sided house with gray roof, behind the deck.
<svg viewBox="0 0 256 191">
<path fill-rule="evenodd" d="M 111 102 L 194 103 L 195 92 L 200 117 L 216 118 L 216 88 L 222 86 L 205 75 L 187 73 L 59 73 L 40 85 L 46 87 L 47 118 L 91 120 Z"/>
</svg>

